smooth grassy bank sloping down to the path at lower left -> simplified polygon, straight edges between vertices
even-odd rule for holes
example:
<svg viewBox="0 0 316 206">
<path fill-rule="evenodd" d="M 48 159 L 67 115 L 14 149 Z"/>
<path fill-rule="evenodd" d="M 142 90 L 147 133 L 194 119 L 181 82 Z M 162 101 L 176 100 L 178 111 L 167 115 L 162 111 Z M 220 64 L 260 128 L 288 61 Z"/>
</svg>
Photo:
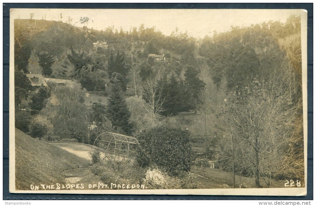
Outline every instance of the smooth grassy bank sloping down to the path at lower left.
<svg viewBox="0 0 316 206">
<path fill-rule="evenodd" d="M 33 139 L 15 129 L 15 187 L 30 190 L 30 185 L 65 184 L 63 171 L 90 162 L 48 142 Z"/>
</svg>

